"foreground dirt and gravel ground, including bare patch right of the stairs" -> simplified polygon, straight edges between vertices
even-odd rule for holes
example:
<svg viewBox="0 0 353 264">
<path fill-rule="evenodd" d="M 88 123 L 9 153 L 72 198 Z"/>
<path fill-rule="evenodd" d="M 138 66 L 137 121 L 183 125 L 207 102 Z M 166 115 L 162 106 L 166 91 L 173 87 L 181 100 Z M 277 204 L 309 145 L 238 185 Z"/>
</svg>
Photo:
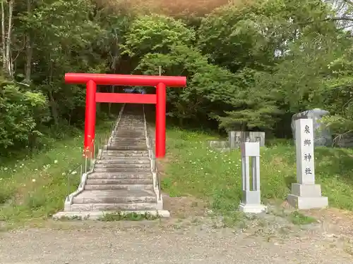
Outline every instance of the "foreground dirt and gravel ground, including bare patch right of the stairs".
<svg viewBox="0 0 353 264">
<path fill-rule="evenodd" d="M 305 226 L 270 213 L 229 228 L 207 216 L 203 201 L 164 196 L 164 203 L 172 218 L 47 221 L 1 232 L 0 263 L 353 264 L 349 212 L 311 210 L 319 222 Z"/>
</svg>

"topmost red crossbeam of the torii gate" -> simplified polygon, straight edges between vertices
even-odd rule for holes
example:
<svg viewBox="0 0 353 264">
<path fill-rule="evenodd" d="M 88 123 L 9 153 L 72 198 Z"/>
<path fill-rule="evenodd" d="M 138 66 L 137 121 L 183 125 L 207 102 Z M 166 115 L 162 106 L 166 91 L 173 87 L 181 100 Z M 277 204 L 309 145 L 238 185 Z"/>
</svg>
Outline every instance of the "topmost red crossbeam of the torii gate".
<svg viewBox="0 0 353 264">
<path fill-rule="evenodd" d="M 86 84 L 92 80 L 97 85 L 124 85 L 156 87 L 163 83 L 167 87 L 185 87 L 184 76 L 158 76 L 158 75 L 117 75 L 97 73 L 66 73 L 65 82 L 70 84 Z"/>
</svg>

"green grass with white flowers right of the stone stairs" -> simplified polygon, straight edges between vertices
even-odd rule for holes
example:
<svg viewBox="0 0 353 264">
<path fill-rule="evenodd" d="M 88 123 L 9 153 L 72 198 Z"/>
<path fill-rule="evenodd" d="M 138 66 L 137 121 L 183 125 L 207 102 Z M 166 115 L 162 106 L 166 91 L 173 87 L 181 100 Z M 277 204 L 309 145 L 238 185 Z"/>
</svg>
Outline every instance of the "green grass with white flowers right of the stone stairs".
<svg viewBox="0 0 353 264">
<path fill-rule="evenodd" d="M 241 199 L 241 153 L 220 153 L 207 146 L 215 137 L 202 132 L 169 129 L 162 189 L 170 196 L 192 195 L 205 199 L 214 210 L 226 213 L 238 208 Z M 330 206 L 353 210 L 353 150 L 316 148 L 316 182 Z M 272 142 L 261 148 L 261 196 L 285 200 L 296 182 L 295 149 L 289 143 Z"/>
</svg>

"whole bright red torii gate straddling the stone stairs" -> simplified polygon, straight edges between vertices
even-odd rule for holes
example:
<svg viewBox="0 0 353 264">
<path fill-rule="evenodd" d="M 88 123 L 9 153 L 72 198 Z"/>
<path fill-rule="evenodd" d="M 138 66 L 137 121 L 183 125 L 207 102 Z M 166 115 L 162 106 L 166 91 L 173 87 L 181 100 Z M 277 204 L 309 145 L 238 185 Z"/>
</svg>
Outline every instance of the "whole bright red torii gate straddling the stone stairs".
<svg viewBox="0 0 353 264">
<path fill-rule="evenodd" d="M 165 156 L 165 107 L 166 87 L 185 87 L 184 76 L 155 75 L 114 75 L 96 73 L 66 73 L 68 84 L 86 84 L 85 108 L 85 150 L 92 151 L 90 146 L 95 139 L 96 103 L 155 103 L 155 155 Z M 156 87 L 156 94 L 118 94 L 97 92 L 97 85 L 124 85 Z"/>
</svg>

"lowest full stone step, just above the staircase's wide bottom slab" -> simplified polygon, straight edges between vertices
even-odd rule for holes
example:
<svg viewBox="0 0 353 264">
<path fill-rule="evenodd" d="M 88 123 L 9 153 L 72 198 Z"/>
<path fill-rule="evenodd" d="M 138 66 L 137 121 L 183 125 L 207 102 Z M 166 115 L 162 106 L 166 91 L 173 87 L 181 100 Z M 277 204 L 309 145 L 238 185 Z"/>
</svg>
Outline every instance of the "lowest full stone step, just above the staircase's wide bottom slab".
<svg viewBox="0 0 353 264">
<path fill-rule="evenodd" d="M 155 210 L 157 203 L 73 203 L 71 211 Z"/>
</svg>

